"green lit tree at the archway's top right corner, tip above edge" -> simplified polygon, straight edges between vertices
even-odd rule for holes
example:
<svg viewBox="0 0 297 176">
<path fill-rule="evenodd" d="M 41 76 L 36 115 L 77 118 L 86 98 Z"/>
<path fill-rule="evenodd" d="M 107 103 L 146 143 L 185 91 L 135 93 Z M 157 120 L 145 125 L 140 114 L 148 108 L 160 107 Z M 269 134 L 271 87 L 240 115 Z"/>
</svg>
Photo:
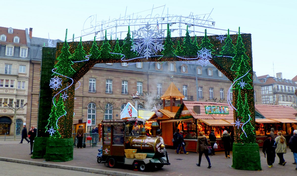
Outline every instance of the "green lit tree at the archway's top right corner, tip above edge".
<svg viewBox="0 0 297 176">
<path fill-rule="evenodd" d="M 234 60 L 234 63 L 231 67 L 232 71 L 237 71 L 239 70 L 239 66 L 241 64 L 241 60 L 244 61 L 244 64 L 247 66 L 247 69 L 250 70 L 251 66 L 248 64 L 249 57 L 245 54 L 247 50 L 244 48 L 244 44 L 242 43 L 242 38 L 240 35 L 240 27 L 238 29 L 238 39 L 237 39 L 237 44 L 235 46 L 235 51 L 236 55 L 233 57 L 232 60 Z"/>
</svg>

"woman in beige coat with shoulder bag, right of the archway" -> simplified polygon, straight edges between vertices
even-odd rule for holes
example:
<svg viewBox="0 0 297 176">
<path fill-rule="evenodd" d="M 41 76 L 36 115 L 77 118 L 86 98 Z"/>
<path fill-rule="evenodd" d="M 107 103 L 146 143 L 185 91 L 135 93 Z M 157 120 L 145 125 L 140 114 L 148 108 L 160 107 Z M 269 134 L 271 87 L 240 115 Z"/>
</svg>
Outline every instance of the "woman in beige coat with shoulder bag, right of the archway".
<svg viewBox="0 0 297 176">
<path fill-rule="evenodd" d="M 287 142 L 285 137 L 282 136 L 282 132 L 277 133 L 277 137 L 275 138 L 275 143 L 277 144 L 277 148 L 275 149 L 275 153 L 277 153 L 277 156 L 279 157 L 279 164 L 282 164 L 285 166 L 287 163 L 284 160 L 284 153 L 287 153 Z"/>
</svg>

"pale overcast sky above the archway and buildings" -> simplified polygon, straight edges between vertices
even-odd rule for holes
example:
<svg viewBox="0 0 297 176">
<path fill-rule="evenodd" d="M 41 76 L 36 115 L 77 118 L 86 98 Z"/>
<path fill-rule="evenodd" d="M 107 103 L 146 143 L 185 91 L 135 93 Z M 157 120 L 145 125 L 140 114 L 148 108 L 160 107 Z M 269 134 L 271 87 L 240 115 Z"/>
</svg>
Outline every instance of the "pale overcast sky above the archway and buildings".
<svg viewBox="0 0 297 176">
<path fill-rule="evenodd" d="M 162 3 L 154 0 L 10 0 L 1 2 L 0 26 L 33 28 L 34 37 L 48 38 L 49 33 L 50 39 L 64 40 L 66 28 L 67 39 L 71 39 L 73 33 L 75 37 L 81 36 L 83 25 L 91 15 L 97 15 L 97 21 L 102 21 L 119 18 L 120 14 L 123 16 L 126 7 L 126 14 L 132 14 L 152 9 L 153 5 L 165 5 L 164 13 L 167 14 L 168 9 L 171 15 L 189 16 L 191 12 L 200 15 L 212 11 L 210 17 L 215 21 L 215 28 L 238 31 L 240 27 L 241 32 L 252 34 L 253 69 L 257 76 L 276 76 L 276 73 L 282 72 L 283 78 L 292 79 L 297 75 L 297 59 L 294 54 L 297 47 L 296 0 L 170 0 Z M 157 9 L 155 12 L 162 14 L 162 10 Z M 204 31 L 204 28 L 196 30 Z M 225 34 L 220 30 L 208 32 Z"/>
</svg>

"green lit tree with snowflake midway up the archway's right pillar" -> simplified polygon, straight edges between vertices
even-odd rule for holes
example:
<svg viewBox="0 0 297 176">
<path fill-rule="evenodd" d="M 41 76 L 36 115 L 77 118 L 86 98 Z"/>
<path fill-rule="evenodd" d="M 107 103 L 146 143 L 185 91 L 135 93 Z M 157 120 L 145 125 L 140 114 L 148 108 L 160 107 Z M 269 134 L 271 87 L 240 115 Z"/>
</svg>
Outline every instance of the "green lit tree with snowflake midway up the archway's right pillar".
<svg viewBox="0 0 297 176">
<path fill-rule="evenodd" d="M 243 57 L 243 56 L 241 56 Z M 252 79 L 250 78 L 251 74 L 248 73 L 247 65 L 244 63 L 243 59 L 241 60 L 239 70 L 236 72 L 237 77 L 234 80 L 237 80 L 234 84 L 233 89 L 252 89 Z"/>
</svg>

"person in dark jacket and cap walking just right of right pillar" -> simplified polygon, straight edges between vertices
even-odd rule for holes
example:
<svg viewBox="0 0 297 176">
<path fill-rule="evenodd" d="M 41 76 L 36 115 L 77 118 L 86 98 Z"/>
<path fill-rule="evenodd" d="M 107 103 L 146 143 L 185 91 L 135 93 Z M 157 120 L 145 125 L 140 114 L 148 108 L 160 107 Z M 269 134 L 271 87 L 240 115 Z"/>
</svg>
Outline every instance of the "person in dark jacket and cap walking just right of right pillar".
<svg viewBox="0 0 297 176">
<path fill-rule="evenodd" d="M 267 156 L 267 164 L 269 165 L 268 167 L 272 167 L 274 160 L 275 160 L 275 148 L 276 144 L 275 141 L 271 138 L 271 135 L 267 135 L 267 139 L 264 140 L 263 143 L 263 153 L 264 155 L 266 154 Z"/>
</svg>

